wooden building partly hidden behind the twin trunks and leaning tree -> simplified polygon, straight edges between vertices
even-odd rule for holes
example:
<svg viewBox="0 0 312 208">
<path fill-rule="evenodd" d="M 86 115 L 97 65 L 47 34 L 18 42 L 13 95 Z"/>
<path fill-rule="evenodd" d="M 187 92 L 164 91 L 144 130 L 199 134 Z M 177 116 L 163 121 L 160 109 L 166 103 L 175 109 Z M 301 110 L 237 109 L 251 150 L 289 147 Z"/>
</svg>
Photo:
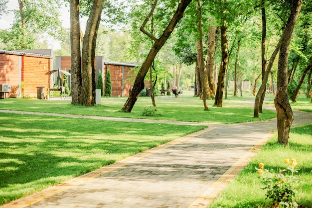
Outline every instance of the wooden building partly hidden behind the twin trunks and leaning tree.
<svg viewBox="0 0 312 208">
<path fill-rule="evenodd" d="M 99 73 L 102 73 L 103 86 L 105 88 L 105 80 L 108 69 L 111 73 L 112 81 L 112 97 L 128 97 L 129 92 L 133 87 L 135 80 L 134 67 L 139 66 L 139 64 L 133 63 L 119 63 L 119 62 L 105 62 L 103 56 L 95 57 L 95 76 L 96 80 Z M 66 70 L 70 73 L 71 61 L 70 56 L 57 56 L 55 57 L 55 68 Z M 70 79 L 70 78 L 69 78 Z M 70 83 L 70 80 L 69 80 Z M 150 83 L 145 82 L 145 87 L 150 88 Z M 105 89 L 104 89 L 105 91 Z"/>
</svg>

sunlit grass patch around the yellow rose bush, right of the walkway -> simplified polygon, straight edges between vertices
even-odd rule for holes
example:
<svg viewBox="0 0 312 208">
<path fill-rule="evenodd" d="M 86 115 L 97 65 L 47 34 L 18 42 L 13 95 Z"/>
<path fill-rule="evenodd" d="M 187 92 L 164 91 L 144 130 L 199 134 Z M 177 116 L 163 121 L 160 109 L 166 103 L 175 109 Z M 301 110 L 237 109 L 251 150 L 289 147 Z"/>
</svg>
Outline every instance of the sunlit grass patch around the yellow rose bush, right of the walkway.
<svg viewBox="0 0 312 208">
<path fill-rule="evenodd" d="M 299 180 L 296 202 L 301 208 L 312 207 L 312 124 L 294 127 L 290 133 L 290 147 L 277 144 L 277 133 L 263 146 L 252 161 L 231 181 L 209 208 L 267 208 L 272 201 L 265 198 L 261 180 L 255 167 L 264 163 L 265 168 L 285 169 L 285 158 L 295 158 L 298 162 Z M 290 174 L 290 172 L 288 172 Z M 239 190 L 239 191 L 238 191 Z"/>
</svg>

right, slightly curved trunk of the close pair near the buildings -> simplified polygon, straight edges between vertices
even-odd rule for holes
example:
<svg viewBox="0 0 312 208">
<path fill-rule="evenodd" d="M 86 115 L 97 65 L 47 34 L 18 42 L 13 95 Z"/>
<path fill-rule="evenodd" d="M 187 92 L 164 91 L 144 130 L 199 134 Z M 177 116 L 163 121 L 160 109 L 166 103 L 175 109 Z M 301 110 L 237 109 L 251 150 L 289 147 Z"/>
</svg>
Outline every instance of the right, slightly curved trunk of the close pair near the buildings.
<svg viewBox="0 0 312 208">
<path fill-rule="evenodd" d="M 101 16 L 103 8 L 103 0 L 95 0 L 90 16 L 87 21 L 87 27 L 85 32 L 85 37 L 83 40 L 82 46 L 82 59 L 81 59 L 81 94 L 79 96 L 79 103 L 85 106 L 93 106 L 94 105 L 94 95 L 95 88 L 93 87 L 94 82 L 94 72 L 92 69 L 92 60 L 94 61 L 94 57 L 92 55 L 95 53 L 92 52 L 93 49 L 93 41 L 96 39 L 96 34 L 98 30 L 98 22 L 100 20 L 99 16 Z"/>
</svg>

